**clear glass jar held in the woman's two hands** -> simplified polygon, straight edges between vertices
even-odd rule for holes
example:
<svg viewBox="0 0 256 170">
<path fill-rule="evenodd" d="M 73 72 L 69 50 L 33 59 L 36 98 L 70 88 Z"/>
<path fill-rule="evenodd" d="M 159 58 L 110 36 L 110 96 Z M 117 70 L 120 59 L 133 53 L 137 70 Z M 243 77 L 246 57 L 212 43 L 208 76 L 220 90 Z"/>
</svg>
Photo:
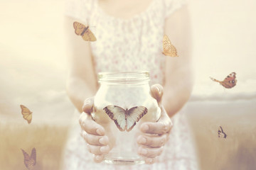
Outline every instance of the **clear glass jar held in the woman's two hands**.
<svg viewBox="0 0 256 170">
<path fill-rule="evenodd" d="M 139 126 L 156 122 L 161 109 L 151 96 L 149 72 L 101 72 L 92 118 L 105 128 L 111 151 L 108 164 L 144 164 L 137 154 Z"/>
</svg>

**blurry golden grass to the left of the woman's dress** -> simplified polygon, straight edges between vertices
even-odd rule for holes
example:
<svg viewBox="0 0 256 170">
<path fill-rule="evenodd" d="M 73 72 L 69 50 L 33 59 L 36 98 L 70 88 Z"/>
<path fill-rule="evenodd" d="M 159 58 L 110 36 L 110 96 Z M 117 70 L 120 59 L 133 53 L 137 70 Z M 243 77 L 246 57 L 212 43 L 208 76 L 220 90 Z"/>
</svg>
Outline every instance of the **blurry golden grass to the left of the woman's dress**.
<svg viewBox="0 0 256 170">
<path fill-rule="evenodd" d="M 36 148 L 36 169 L 60 169 L 68 126 L 0 125 L 0 169 L 26 169 L 21 149 Z"/>
</svg>

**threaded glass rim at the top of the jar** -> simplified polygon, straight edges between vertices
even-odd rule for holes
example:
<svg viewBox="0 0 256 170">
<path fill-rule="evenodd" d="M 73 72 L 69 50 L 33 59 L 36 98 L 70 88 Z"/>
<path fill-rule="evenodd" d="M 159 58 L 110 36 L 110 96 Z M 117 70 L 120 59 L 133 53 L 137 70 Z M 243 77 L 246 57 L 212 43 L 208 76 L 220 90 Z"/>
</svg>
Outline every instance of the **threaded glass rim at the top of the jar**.
<svg viewBox="0 0 256 170">
<path fill-rule="evenodd" d="M 118 82 L 118 83 L 139 83 L 142 81 L 149 81 L 148 71 L 137 71 L 137 72 L 99 72 L 99 82 Z"/>
</svg>

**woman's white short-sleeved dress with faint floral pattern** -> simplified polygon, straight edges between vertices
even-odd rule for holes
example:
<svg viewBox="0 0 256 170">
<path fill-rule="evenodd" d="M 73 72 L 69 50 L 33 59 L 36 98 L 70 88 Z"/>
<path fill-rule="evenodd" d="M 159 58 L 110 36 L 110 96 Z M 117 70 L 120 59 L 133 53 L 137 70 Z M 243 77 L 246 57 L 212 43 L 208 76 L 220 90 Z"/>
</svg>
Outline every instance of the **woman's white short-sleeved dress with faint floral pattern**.
<svg viewBox="0 0 256 170">
<path fill-rule="evenodd" d="M 184 0 L 152 0 L 146 11 L 130 19 L 107 15 L 97 0 L 68 0 L 66 15 L 93 26 L 97 38 L 91 42 L 96 72 L 148 70 L 151 84 L 164 84 L 166 56 L 162 55 L 165 19 L 184 4 Z M 75 35 L 75 33 L 74 33 Z M 81 38 L 82 40 L 82 38 Z M 63 169 L 198 169 L 188 124 L 183 113 L 172 122 L 169 142 L 155 164 L 114 166 L 95 163 L 80 137 L 79 113 L 65 147 Z"/>
</svg>

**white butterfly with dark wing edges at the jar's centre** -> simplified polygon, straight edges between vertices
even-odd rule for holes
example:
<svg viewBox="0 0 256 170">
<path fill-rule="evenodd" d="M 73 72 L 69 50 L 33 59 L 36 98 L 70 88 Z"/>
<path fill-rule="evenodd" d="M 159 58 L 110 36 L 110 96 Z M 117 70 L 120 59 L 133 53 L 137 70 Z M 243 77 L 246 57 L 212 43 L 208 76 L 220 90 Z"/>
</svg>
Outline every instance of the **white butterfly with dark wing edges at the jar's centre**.
<svg viewBox="0 0 256 170">
<path fill-rule="evenodd" d="M 136 122 L 139 122 L 148 111 L 144 106 L 135 106 L 129 110 L 124 110 L 124 108 L 114 105 L 106 106 L 103 110 L 112 120 L 114 120 L 117 128 L 122 132 L 125 130 L 127 130 L 127 132 L 132 130 L 134 125 L 136 125 Z"/>
</svg>

